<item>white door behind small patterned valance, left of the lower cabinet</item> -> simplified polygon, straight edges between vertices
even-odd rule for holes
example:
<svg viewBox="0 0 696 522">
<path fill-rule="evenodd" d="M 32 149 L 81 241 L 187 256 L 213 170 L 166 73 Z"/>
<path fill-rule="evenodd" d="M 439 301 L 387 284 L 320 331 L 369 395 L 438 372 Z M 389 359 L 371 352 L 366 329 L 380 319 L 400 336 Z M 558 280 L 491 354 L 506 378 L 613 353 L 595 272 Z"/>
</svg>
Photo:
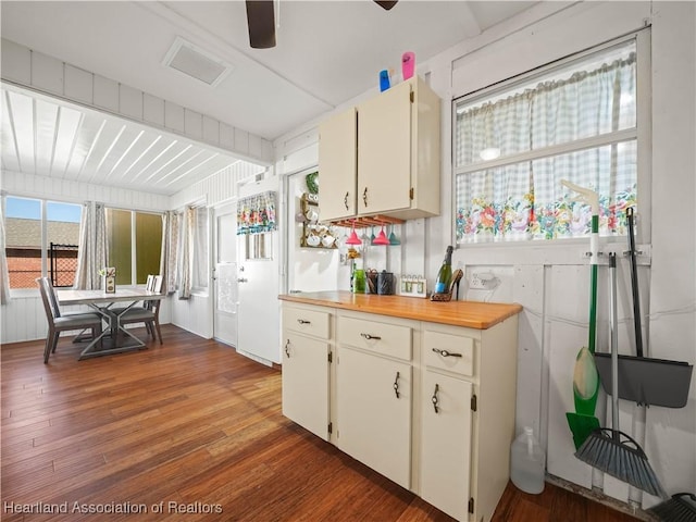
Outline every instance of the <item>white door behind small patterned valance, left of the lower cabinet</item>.
<svg viewBox="0 0 696 522">
<path fill-rule="evenodd" d="M 275 210 L 279 216 L 278 188 L 277 177 L 249 183 L 239 188 L 238 203 L 271 190 L 275 192 Z M 237 351 L 265 364 L 281 363 L 279 234 L 275 231 L 237 236 Z"/>
</svg>

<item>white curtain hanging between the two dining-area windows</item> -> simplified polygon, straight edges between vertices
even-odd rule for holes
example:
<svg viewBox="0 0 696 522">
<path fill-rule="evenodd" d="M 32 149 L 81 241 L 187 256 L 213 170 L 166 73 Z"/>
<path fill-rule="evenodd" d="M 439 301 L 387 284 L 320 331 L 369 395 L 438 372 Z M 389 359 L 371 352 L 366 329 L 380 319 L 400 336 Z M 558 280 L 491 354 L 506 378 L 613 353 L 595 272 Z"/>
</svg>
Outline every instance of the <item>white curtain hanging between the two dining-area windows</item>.
<svg viewBox="0 0 696 522">
<path fill-rule="evenodd" d="M 92 213 L 94 209 L 94 213 Z M 99 270 L 107 266 L 107 212 L 103 203 L 87 201 L 83 204 L 79 222 L 79 249 L 73 288 L 90 290 L 101 288 Z"/>
</svg>

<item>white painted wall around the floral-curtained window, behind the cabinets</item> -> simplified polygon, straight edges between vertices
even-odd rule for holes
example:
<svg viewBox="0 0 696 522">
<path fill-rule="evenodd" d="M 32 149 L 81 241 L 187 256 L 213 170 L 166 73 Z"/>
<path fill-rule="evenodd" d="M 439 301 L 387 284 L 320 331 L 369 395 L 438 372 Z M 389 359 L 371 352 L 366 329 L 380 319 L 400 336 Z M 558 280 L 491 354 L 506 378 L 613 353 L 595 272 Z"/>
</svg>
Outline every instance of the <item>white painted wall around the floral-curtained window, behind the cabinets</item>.
<svg viewBox="0 0 696 522">
<path fill-rule="evenodd" d="M 624 34 L 651 25 L 652 83 L 652 186 L 649 252 L 639 259 L 646 348 L 652 357 L 696 362 L 696 4 L 693 2 L 546 2 L 524 15 L 506 21 L 478 38 L 468 40 L 419 64 L 418 74 L 445 100 L 442 153 L 451 158 L 451 107 L 449 100 L 495 82 L 552 62 Z M 341 110 L 348 102 L 336 109 Z M 307 158 L 315 144 L 316 123 L 288 133 L 275 141 L 276 169 L 291 173 L 310 166 Z M 297 154 L 294 156 L 293 147 Z M 301 160 L 297 160 L 301 158 Z M 287 167 L 286 165 L 293 165 Z M 405 258 L 409 265 L 424 266 L 432 286 L 443 253 L 451 243 L 451 164 L 443 163 L 443 212 L 425 220 L 424 228 L 407 229 Z M 666 179 L 668 183 L 666 183 Z M 679 190 L 675 189 L 679 187 Z M 645 204 L 642 207 L 645 209 Z M 676 225 L 679 224 L 679 225 Z M 421 236 L 412 238 L 418 233 Z M 412 240 L 415 239 L 415 240 Z M 419 248 L 424 246 L 424 251 Z M 622 244 L 604 245 L 619 252 Z M 469 290 L 467 299 L 515 301 L 520 315 L 518 350 L 517 428 L 532 425 L 547 449 L 548 471 L 575 484 L 591 487 L 593 470 L 573 457 L 566 411 L 572 406 L 572 368 L 580 347 L 587 343 L 588 269 L 583 241 L 561 247 L 501 245 L 464 246 L 453 262 L 473 271 L 496 274 L 501 285 L 494 293 Z M 422 259 L 413 259 L 421 256 Z M 629 268 L 621 260 L 620 351 L 634 353 Z M 606 271 L 600 269 L 598 338 L 607 349 Z M 301 281 L 299 277 L 297 281 Z M 300 288 L 301 289 L 301 288 Z M 620 407 L 621 427 L 632 434 L 649 457 L 671 494 L 696 492 L 696 380 L 683 409 L 652 406 L 647 413 L 634 405 Z M 604 425 L 610 411 L 600 401 L 597 415 Z M 643 420 L 645 418 L 645 420 Z M 604 493 L 621 501 L 629 498 L 644 508 L 657 499 L 629 489 L 610 476 L 601 476 Z M 597 476 L 598 475 L 598 476 Z M 629 497 L 631 496 L 631 497 Z"/>
</svg>

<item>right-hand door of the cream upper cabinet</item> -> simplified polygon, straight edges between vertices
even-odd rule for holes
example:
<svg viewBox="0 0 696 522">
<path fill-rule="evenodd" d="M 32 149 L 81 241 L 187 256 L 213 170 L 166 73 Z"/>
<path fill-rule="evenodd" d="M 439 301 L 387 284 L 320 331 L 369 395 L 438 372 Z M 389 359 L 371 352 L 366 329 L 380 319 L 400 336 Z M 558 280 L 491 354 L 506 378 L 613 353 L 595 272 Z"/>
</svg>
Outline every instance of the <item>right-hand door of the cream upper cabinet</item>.
<svg viewBox="0 0 696 522">
<path fill-rule="evenodd" d="M 358 213 L 411 204 L 411 84 L 358 107 Z"/>
</svg>

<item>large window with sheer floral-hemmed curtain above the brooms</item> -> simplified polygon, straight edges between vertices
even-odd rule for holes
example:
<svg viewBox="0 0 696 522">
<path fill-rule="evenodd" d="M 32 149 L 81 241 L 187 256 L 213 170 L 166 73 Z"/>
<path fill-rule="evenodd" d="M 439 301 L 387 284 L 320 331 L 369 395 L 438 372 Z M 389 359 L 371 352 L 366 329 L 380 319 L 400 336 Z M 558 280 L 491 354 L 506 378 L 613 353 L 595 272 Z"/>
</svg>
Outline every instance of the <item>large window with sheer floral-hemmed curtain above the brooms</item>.
<svg viewBox="0 0 696 522">
<path fill-rule="evenodd" d="M 453 101 L 458 244 L 625 234 L 638 189 L 637 46 L 632 38 Z M 644 91 L 642 91 L 644 92 Z"/>
</svg>

